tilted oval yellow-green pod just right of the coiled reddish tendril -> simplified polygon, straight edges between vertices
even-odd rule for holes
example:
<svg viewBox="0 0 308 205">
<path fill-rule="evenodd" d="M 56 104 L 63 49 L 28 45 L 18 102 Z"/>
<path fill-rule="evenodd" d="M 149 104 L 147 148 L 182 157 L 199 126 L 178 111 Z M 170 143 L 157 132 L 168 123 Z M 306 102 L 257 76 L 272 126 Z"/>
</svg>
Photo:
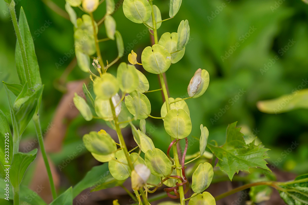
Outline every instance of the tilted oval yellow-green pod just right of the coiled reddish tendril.
<svg viewBox="0 0 308 205">
<path fill-rule="evenodd" d="M 210 163 L 199 164 L 193 173 L 192 189 L 195 193 L 200 194 L 212 182 L 214 175 L 213 167 Z"/>
</svg>

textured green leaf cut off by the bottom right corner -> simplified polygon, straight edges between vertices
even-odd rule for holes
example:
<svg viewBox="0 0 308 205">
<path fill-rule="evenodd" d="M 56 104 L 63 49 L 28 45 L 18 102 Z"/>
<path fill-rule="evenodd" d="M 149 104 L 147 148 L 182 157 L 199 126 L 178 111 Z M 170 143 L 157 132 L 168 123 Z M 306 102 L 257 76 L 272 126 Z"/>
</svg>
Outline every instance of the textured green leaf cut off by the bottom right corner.
<svg viewBox="0 0 308 205">
<path fill-rule="evenodd" d="M 282 183 L 283 184 L 283 183 Z M 298 176 L 293 183 L 280 185 L 280 197 L 289 205 L 308 204 L 308 174 Z"/>
</svg>

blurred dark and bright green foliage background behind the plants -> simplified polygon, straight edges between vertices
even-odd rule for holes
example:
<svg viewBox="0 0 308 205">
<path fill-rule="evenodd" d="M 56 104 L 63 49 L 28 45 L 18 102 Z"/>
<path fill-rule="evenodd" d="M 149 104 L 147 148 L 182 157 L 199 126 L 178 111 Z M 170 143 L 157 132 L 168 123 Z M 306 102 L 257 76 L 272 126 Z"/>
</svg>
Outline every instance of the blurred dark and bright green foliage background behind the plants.
<svg viewBox="0 0 308 205">
<path fill-rule="evenodd" d="M 15 2 L 17 14 L 21 6 L 25 10 L 45 84 L 41 106 L 42 128 L 45 129 L 52 121 L 55 108 L 63 95 L 56 89 L 57 79 L 74 58 L 64 58 L 65 54 L 74 49 L 73 25 L 40 0 Z M 64 0 L 54 2 L 64 9 Z M 163 19 L 169 17 L 168 1 L 155 0 L 154 4 L 160 8 Z M 76 11 L 79 17 L 83 14 L 78 9 Z M 95 18 L 99 20 L 104 13 L 105 6 L 102 4 L 95 11 Z M 122 6 L 113 16 L 126 50 L 120 62 L 128 62 L 127 56 L 131 50 L 138 54 L 141 62 L 142 50 L 151 44 L 145 26 L 125 18 Z M 184 57 L 166 73 L 170 97 L 186 96 L 187 85 L 198 68 L 206 69 L 210 74 L 210 84 L 205 94 L 186 101 L 193 123 L 191 135 L 200 136 L 202 123 L 209 129 L 209 142 L 216 140 L 218 144 L 223 144 L 226 127 L 238 121 L 237 125 L 244 127 L 245 135 L 256 134 L 265 147 L 271 149 L 268 151 L 269 162 L 282 158 L 282 163 L 278 164 L 280 169 L 296 174 L 306 173 L 308 111 L 270 115 L 258 111 L 256 103 L 289 94 L 308 78 L 308 5 L 300 0 L 183 0 L 175 18 L 162 23 L 158 30 L 159 37 L 164 32 L 176 32 L 180 21 L 185 19 L 189 21 L 191 40 L 186 46 Z M 4 1 L 0 1 L 0 22 L 0 77 L 6 82 L 18 83 L 14 62 L 16 36 Z M 100 27 L 99 36 L 105 38 L 104 26 Z M 117 56 L 113 41 L 101 43 L 101 50 L 103 59 L 109 62 Z M 228 56 L 228 52 L 232 54 Z M 273 62 L 276 55 L 278 60 Z M 222 59 L 222 56 L 226 58 Z M 111 72 L 115 71 L 118 63 L 111 67 Z M 266 70 L 265 64 L 268 65 Z M 144 71 L 142 66 L 136 67 Z M 150 90 L 158 89 L 160 85 L 157 75 L 144 74 L 150 82 Z M 88 78 L 88 74 L 76 66 L 67 81 L 85 78 Z M 307 82 L 303 88 L 308 88 Z M 238 96 L 240 90 L 244 93 L 242 96 Z M 8 101 L 2 83 L 0 96 L 1 109 L 8 113 Z M 151 115 L 159 116 L 161 93 L 149 93 L 147 96 L 152 105 Z M 224 110 L 225 106 L 229 106 L 229 109 Z M 149 129 L 151 126 L 158 128 L 151 134 L 151 138 L 157 148 L 166 151 L 169 141 L 165 140 L 167 134 L 161 121 L 147 119 L 147 123 Z M 80 127 L 93 127 L 93 124 L 104 125 L 104 122 L 86 122 L 81 115 L 71 122 L 64 141 L 65 152 L 53 156 L 56 165 L 75 151 L 76 145 L 81 142 L 84 132 L 80 131 Z M 90 128 L 87 130 L 90 131 Z M 23 135 L 23 139 L 28 138 L 35 138 L 32 123 Z M 292 142 L 299 145 L 289 155 L 282 155 Z M 188 152 L 194 153 L 198 147 L 199 143 L 192 143 Z M 68 179 L 68 185 L 77 183 L 91 169 L 92 165 L 88 162 L 88 159 L 94 160 L 91 154 L 87 151 L 81 154 L 85 155 L 75 159 L 62 172 Z M 85 166 L 76 169 L 79 163 Z"/>
</svg>

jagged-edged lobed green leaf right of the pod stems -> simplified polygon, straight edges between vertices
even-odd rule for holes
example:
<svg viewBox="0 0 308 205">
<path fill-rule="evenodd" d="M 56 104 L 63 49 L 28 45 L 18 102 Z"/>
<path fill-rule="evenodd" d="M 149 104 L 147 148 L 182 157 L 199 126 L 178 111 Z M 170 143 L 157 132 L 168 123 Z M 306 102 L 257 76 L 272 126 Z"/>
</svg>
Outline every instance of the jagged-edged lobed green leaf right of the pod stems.
<svg viewBox="0 0 308 205">
<path fill-rule="evenodd" d="M 249 171 L 250 167 L 261 167 L 270 170 L 265 161 L 267 157 L 266 151 L 260 144 L 255 145 L 253 142 L 246 144 L 243 134 L 240 132 L 241 128 L 236 127 L 236 123 L 232 123 L 227 128 L 226 143 L 223 146 L 214 146 L 208 143 L 208 147 L 217 156 L 217 167 L 225 171 L 230 180 L 233 175 L 241 171 Z"/>
</svg>

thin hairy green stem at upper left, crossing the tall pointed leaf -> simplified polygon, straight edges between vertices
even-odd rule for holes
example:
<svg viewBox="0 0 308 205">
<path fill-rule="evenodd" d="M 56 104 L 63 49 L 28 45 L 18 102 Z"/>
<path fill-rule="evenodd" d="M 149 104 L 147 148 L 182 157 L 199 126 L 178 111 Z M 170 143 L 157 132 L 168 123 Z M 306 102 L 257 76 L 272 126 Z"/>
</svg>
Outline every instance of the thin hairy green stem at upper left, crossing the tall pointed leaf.
<svg viewBox="0 0 308 205">
<path fill-rule="evenodd" d="M 20 34 L 20 30 L 19 30 L 19 26 L 18 26 L 18 22 L 17 22 L 17 17 L 16 17 L 16 13 L 15 13 L 15 2 L 14 2 L 14 0 L 12 0 L 12 2 L 10 4 L 6 3 L 6 5 L 9 7 L 10 14 L 11 14 L 11 17 L 12 17 L 14 30 L 15 30 L 17 40 L 18 40 L 18 44 L 19 44 L 20 51 L 21 51 L 22 63 L 23 63 L 23 66 L 25 68 L 25 74 L 26 74 L 28 86 L 29 86 L 29 88 L 32 88 L 31 81 L 30 81 L 30 72 L 29 72 L 29 67 L 28 67 L 27 57 L 26 57 L 26 50 L 25 50 L 25 47 L 24 47 L 23 42 L 22 42 L 22 37 L 21 37 L 21 34 Z"/>
</svg>

